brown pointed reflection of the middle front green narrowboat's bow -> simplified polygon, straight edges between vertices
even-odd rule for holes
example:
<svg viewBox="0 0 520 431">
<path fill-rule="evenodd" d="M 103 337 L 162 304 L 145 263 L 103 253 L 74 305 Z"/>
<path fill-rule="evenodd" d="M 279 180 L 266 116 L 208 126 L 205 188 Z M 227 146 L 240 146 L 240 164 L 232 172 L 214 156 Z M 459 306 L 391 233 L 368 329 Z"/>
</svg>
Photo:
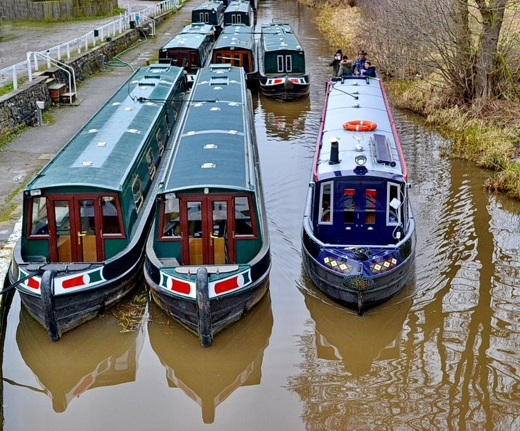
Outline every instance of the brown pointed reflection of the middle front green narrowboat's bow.
<svg viewBox="0 0 520 431">
<path fill-rule="evenodd" d="M 200 348 L 198 339 L 179 324 L 164 324 L 167 316 L 155 304 L 150 315 L 150 344 L 166 368 L 168 386 L 182 389 L 202 407 L 204 423 L 214 422 L 216 407 L 236 389 L 260 384 L 263 351 L 272 330 L 269 292 L 250 313 L 220 332 L 211 348 Z"/>
</svg>

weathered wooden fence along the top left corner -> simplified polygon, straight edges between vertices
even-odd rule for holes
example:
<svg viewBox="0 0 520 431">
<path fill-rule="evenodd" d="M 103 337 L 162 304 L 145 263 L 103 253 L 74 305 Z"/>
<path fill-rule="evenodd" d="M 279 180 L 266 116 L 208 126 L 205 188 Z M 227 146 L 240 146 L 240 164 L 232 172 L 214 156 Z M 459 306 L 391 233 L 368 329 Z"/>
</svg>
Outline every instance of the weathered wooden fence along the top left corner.
<svg viewBox="0 0 520 431">
<path fill-rule="evenodd" d="M 1 0 L 0 15 L 11 20 L 57 21 L 110 15 L 117 0 Z"/>
</svg>

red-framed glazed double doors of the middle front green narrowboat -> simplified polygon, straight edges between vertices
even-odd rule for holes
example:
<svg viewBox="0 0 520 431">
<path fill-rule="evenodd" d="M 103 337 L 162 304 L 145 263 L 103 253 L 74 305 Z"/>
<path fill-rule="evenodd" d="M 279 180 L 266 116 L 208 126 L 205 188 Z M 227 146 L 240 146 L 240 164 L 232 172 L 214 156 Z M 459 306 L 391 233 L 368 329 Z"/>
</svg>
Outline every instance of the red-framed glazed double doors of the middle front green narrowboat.
<svg viewBox="0 0 520 431">
<path fill-rule="evenodd" d="M 234 262 L 229 226 L 232 198 L 204 196 L 181 203 L 182 261 L 189 265 Z"/>
</svg>

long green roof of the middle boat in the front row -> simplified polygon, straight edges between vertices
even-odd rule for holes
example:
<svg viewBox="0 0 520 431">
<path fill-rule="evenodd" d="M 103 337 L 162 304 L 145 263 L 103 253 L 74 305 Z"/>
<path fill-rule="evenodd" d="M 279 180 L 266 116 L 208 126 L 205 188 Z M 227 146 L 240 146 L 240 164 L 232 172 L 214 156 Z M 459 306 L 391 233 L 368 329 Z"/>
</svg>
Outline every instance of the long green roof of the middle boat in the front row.
<svg viewBox="0 0 520 431">
<path fill-rule="evenodd" d="M 243 68 L 198 71 L 162 192 L 193 187 L 254 189 Z"/>
</svg>

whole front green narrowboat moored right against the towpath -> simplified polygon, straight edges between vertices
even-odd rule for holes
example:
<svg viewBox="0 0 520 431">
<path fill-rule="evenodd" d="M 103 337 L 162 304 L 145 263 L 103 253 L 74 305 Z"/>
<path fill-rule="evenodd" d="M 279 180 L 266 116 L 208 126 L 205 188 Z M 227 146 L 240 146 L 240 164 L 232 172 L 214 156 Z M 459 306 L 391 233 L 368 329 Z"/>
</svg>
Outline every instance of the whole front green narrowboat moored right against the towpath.
<svg viewBox="0 0 520 431">
<path fill-rule="evenodd" d="M 140 277 L 184 90 L 180 67 L 139 69 L 25 187 L 9 279 L 53 341 Z"/>
</svg>

